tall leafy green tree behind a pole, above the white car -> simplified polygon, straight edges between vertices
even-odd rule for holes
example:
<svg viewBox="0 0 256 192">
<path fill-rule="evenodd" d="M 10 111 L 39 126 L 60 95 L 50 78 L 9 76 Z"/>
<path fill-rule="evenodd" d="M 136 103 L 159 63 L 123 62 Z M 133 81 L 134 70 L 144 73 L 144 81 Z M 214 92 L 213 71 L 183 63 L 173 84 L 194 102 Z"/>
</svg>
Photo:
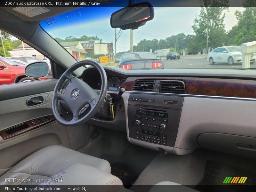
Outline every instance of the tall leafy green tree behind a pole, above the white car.
<svg viewBox="0 0 256 192">
<path fill-rule="evenodd" d="M 212 0 L 213 1 L 213 0 Z M 217 1 L 217 0 L 216 0 Z M 217 1 L 218 2 L 218 1 Z M 199 16 L 194 20 L 192 26 L 196 33 L 193 39 L 194 51 L 203 51 L 206 48 L 207 30 L 208 30 L 208 47 L 216 48 L 227 43 L 227 33 L 224 25 L 226 17 L 224 10 L 228 7 L 202 7 Z M 195 47 L 197 46 L 197 48 Z M 196 49 L 195 49 L 196 48 Z M 189 50 L 191 52 L 192 50 Z"/>
</svg>

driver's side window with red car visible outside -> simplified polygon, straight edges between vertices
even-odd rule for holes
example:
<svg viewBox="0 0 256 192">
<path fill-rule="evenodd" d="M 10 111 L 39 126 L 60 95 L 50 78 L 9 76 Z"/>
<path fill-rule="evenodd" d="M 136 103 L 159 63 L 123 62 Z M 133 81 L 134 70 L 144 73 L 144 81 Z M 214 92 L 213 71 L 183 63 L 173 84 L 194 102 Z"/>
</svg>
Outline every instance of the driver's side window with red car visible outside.
<svg viewBox="0 0 256 192">
<path fill-rule="evenodd" d="M 45 56 L 25 42 L 1 31 L 3 45 L 0 43 L 0 85 L 29 81 L 41 81 L 52 78 L 50 61 L 43 60 Z M 28 64 L 44 61 L 49 65 L 49 74 L 43 78 L 26 76 L 25 68 Z M 5 67 L 4 67 L 5 66 Z M 18 67 L 17 67 L 18 66 Z M 2 70 L 1 70 L 2 68 Z"/>
</svg>

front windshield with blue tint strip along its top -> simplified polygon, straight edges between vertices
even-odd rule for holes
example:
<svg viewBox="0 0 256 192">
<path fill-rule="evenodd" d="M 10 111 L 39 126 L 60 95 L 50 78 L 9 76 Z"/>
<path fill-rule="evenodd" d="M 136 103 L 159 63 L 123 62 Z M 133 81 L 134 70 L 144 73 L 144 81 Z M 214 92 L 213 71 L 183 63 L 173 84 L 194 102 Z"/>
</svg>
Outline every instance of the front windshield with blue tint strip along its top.
<svg viewBox="0 0 256 192">
<path fill-rule="evenodd" d="M 119 67 L 123 58 L 158 59 L 163 69 L 242 69 L 242 54 L 232 52 L 256 40 L 254 7 L 154 7 L 154 19 L 138 29 L 111 28 L 111 14 L 121 8 L 82 7 L 40 25 L 76 60 L 92 58 L 109 67 Z M 170 18 L 175 23 L 167 24 Z M 124 55 L 130 52 L 142 53 Z"/>
</svg>

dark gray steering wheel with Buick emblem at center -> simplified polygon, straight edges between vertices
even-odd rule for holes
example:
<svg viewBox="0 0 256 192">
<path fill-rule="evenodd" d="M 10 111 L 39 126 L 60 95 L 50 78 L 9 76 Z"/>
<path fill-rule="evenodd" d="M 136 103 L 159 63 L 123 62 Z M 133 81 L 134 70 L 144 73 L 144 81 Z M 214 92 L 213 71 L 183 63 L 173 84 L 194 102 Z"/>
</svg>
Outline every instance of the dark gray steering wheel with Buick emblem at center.
<svg viewBox="0 0 256 192">
<path fill-rule="evenodd" d="M 101 77 L 100 94 L 95 92 L 88 84 L 72 75 L 72 72 L 84 65 L 95 67 Z M 63 93 L 60 93 L 65 80 L 69 83 Z M 68 68 L 58 80 L 52 95 L 52 112 L 55 119 L 65 126 L 77 126 L 91 119 L 100 109 L 107 92 L 108 80 L 103 67 L 96 61 L 79 61 Z M 64 101 L 73 114 L 70 121 L 63 119 L 58 110 L 58 101 Z M 88 112 L 86 115 L 85 112 Z M 82 116 L 81 116 L 82 115 Z"/>
</svg>

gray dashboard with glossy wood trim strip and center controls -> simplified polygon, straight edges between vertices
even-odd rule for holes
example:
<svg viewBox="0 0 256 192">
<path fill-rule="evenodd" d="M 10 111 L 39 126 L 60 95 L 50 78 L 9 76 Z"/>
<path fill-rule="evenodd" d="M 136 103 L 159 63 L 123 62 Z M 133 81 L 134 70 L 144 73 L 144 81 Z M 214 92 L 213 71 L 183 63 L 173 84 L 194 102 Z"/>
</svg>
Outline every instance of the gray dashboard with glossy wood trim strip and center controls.
<svg viewBox="0 0 256 192">
<path fill-rule="evenodd" d="M 88 124 L 125 131 L 131 143 L 164 153 L 185 155 L 207 148 L 255 156 L 253 71 L 236 70 L 229 77 L 223 70 L 195 70 L 194 74 L 189 70 L 190 75 L 186 70 L 105 71 L 108 81 L 113 77 L 124 81 L 120 88 L 125 92 L 115 104 L 114 119 L 93 117 Z M 96 73 L 87 68 L 82 77 L 99 89 Z M 107 94 L 115 98 L 120 88 L 108 87 Z"/>
</svg>

